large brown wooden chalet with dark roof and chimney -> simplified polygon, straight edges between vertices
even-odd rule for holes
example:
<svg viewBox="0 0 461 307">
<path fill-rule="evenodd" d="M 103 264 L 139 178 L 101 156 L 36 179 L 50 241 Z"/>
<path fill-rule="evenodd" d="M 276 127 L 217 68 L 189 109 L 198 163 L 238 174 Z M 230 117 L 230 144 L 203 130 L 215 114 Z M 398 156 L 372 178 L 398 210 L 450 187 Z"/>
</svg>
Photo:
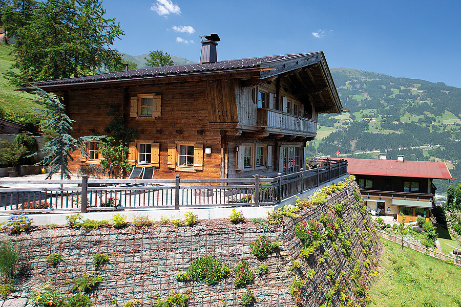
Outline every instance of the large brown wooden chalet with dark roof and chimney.
<svg viewBox="0 0 461 307">
<path fill-rule="evenodd" d="M 119 118 L 138 130 L 133 165 L 155 167 L 154 178 L 274 177 L 305 167 L 304 147 L 319 113 L 342 105 L 323 52 L 217 61 L 217 34 L 202 36 L 201 63 L 125 70 L 35 83 L 63 97 L 73 136 L 104 135 Z M 89 158 L 98 164 L 98 144 Z"/>
</svg>

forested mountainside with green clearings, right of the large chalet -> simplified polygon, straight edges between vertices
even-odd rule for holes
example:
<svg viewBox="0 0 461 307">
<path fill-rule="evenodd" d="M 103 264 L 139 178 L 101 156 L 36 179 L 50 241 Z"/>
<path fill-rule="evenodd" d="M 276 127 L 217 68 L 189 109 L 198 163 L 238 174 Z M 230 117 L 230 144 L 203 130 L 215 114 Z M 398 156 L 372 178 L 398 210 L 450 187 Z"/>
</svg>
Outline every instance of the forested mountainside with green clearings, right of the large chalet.
<svg viewBox="0 0 461 307">
<path fill-rule="evenodd" d="M 381 151 L 388 159 L 399 154 L 407 160 L 446 161 L 453 177 L 461 177 L 461 165 L 456 167 L 461 160 L 461 89 L 357 69 L 331 73 L 350 112 L 319 117 L 321 141 L 309 143 L 310 155 Z M 377 154 L 350 157 L 371 159 Z M 445 190 L 445 183 L 439 190 Z"/>
</svg>

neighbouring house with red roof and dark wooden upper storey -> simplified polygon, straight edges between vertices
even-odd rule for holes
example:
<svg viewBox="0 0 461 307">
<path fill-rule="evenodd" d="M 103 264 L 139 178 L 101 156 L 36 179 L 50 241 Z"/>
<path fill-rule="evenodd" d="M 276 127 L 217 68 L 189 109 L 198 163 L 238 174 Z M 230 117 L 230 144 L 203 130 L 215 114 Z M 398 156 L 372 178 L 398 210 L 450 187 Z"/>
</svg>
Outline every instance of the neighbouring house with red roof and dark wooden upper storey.
<svg viewBox="0 0 461 307">
<path fill-rule="evenodd" d="M 415 222 L 418 216 L 432 217 L 434 195 L 437 189 L 433 179 L 452 179 L 445 162 L 397 160 L 345 159 L 347 172 L 359 184 L 362 197 L 370 211 L 393 216 L 401 222 Z"/>
</svg>

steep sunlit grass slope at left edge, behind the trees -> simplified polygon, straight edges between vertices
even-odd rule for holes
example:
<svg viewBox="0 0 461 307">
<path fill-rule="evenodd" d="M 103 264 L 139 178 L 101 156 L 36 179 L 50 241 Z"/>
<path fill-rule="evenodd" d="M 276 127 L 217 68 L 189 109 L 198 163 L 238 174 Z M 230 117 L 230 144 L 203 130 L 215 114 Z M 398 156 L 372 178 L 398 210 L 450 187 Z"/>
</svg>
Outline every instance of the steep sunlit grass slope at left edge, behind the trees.
<svg viewBox="0 0 461 307">
<path fill-rule="evenodd" d="M 39 107 L 33 101 L 34 95 L 14 91 L 17 87 L 5 77 L 13 63 L 14 57 L 10 55 L 13 48 L 12 45 L 0 43 L 0 106 L 9 112 L 31 113 L 31 107 Z"/>
</svg>

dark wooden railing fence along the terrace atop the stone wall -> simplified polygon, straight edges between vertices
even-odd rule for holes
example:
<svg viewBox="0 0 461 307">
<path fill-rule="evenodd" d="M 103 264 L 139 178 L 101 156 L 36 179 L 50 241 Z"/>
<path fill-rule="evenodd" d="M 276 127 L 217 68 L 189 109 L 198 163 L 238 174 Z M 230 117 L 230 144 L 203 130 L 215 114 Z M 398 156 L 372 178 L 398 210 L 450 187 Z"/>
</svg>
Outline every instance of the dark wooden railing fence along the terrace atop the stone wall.
<svg viewBox="0 0 461 307">
<path fill-rule="evenodd" d="M 347 173 L 347 162 L 246 179 L 2 180 L 0 212 L 274 205 Z M 27 185 L 27 186 L 25 186 Z"/>
</svg>

